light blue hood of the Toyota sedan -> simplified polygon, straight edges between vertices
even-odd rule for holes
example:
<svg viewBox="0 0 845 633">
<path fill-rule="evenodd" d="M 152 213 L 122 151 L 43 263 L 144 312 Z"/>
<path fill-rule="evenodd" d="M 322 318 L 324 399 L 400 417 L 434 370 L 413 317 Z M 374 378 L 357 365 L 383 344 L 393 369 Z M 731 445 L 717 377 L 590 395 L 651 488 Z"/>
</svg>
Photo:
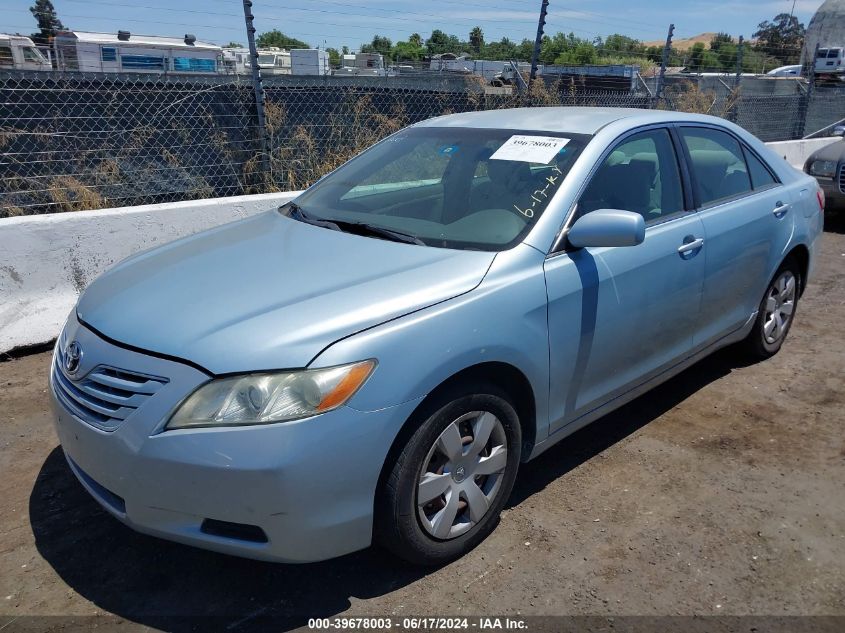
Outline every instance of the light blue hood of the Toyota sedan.
<svg viewBox="0 0 845 633">
<path fill-rule="evenodd" d="M 340 338 L 472 290 L 494 257 L 273 211 L 125 260 L 88 287 L 77 315 L 214 374 L 304 367 Z"/>
</svg>

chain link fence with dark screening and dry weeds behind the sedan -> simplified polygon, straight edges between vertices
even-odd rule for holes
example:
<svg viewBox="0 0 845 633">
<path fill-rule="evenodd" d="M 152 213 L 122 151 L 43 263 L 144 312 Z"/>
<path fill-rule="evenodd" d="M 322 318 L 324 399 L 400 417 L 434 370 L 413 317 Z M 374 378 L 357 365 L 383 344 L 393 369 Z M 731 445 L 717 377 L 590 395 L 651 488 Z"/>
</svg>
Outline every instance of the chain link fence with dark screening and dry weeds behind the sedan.
<svg viewBox="0 0 845 633">
<path fill-rule="evenodd" d="M 839 93 L 809 100 L 675 88 L 657 103 L 647 92 L 585 90 L 566 78 L 524 94 L 443 73 L 273 76 L 264 87 L 262 130 L 242 75 L 0 74 L 0 217 L 301 189 L 406 125 L 456 112 L 659 107 L 724 116 L 764 141 L 845 118 Z"/>
</svg>

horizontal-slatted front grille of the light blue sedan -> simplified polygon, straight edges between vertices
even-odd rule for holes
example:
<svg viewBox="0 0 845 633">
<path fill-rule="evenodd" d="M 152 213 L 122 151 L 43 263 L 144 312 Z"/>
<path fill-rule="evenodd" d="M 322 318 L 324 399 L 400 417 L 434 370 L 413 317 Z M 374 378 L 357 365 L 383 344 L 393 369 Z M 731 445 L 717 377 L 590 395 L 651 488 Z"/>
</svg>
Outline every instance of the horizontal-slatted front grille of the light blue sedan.
<svg viewBox="0 0 845 633">
<path fill-rule="evenodd" d="M 53 391 L 76 417 L 103 431 L 113 431 L 167 384 L 166 378 L 99 365 L 76 381 L 64 372 L 64 351 L 56 350 Z"/>
</svg>

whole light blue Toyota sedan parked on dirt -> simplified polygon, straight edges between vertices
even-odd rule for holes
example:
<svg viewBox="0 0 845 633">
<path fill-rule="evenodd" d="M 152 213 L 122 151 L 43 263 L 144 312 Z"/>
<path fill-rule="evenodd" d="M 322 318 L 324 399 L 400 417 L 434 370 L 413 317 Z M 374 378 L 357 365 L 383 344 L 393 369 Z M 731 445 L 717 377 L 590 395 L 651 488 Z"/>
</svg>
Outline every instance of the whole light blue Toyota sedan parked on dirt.
<svg viewBox="0 0 845 633">
<path fill-rule="evenodd" d="M 442 563 L 494 529 L 520 463 L 720 347 L 775 354 L 822 207 L 721 119 L 424 121 L 97 279 L 56 345 L 58 434 L 141 532 Z"/>
</svg>

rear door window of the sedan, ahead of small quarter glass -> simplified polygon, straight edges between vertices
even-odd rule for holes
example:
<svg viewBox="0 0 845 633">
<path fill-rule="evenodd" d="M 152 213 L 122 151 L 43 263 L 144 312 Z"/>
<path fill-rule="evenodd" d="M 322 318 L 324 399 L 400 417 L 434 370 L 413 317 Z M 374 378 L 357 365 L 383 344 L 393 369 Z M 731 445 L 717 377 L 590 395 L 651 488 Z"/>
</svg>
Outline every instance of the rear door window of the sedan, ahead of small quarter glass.
<svg viewBox="0 0 845 633">
<path fill-rule="evenodd" d="M 690 170 L 701 206 L 752 191 L 742 147 L 733 136 L 713 128 L 697 127 L 682 127 L 680 133 L 689 151 Z"/>
</svg>

